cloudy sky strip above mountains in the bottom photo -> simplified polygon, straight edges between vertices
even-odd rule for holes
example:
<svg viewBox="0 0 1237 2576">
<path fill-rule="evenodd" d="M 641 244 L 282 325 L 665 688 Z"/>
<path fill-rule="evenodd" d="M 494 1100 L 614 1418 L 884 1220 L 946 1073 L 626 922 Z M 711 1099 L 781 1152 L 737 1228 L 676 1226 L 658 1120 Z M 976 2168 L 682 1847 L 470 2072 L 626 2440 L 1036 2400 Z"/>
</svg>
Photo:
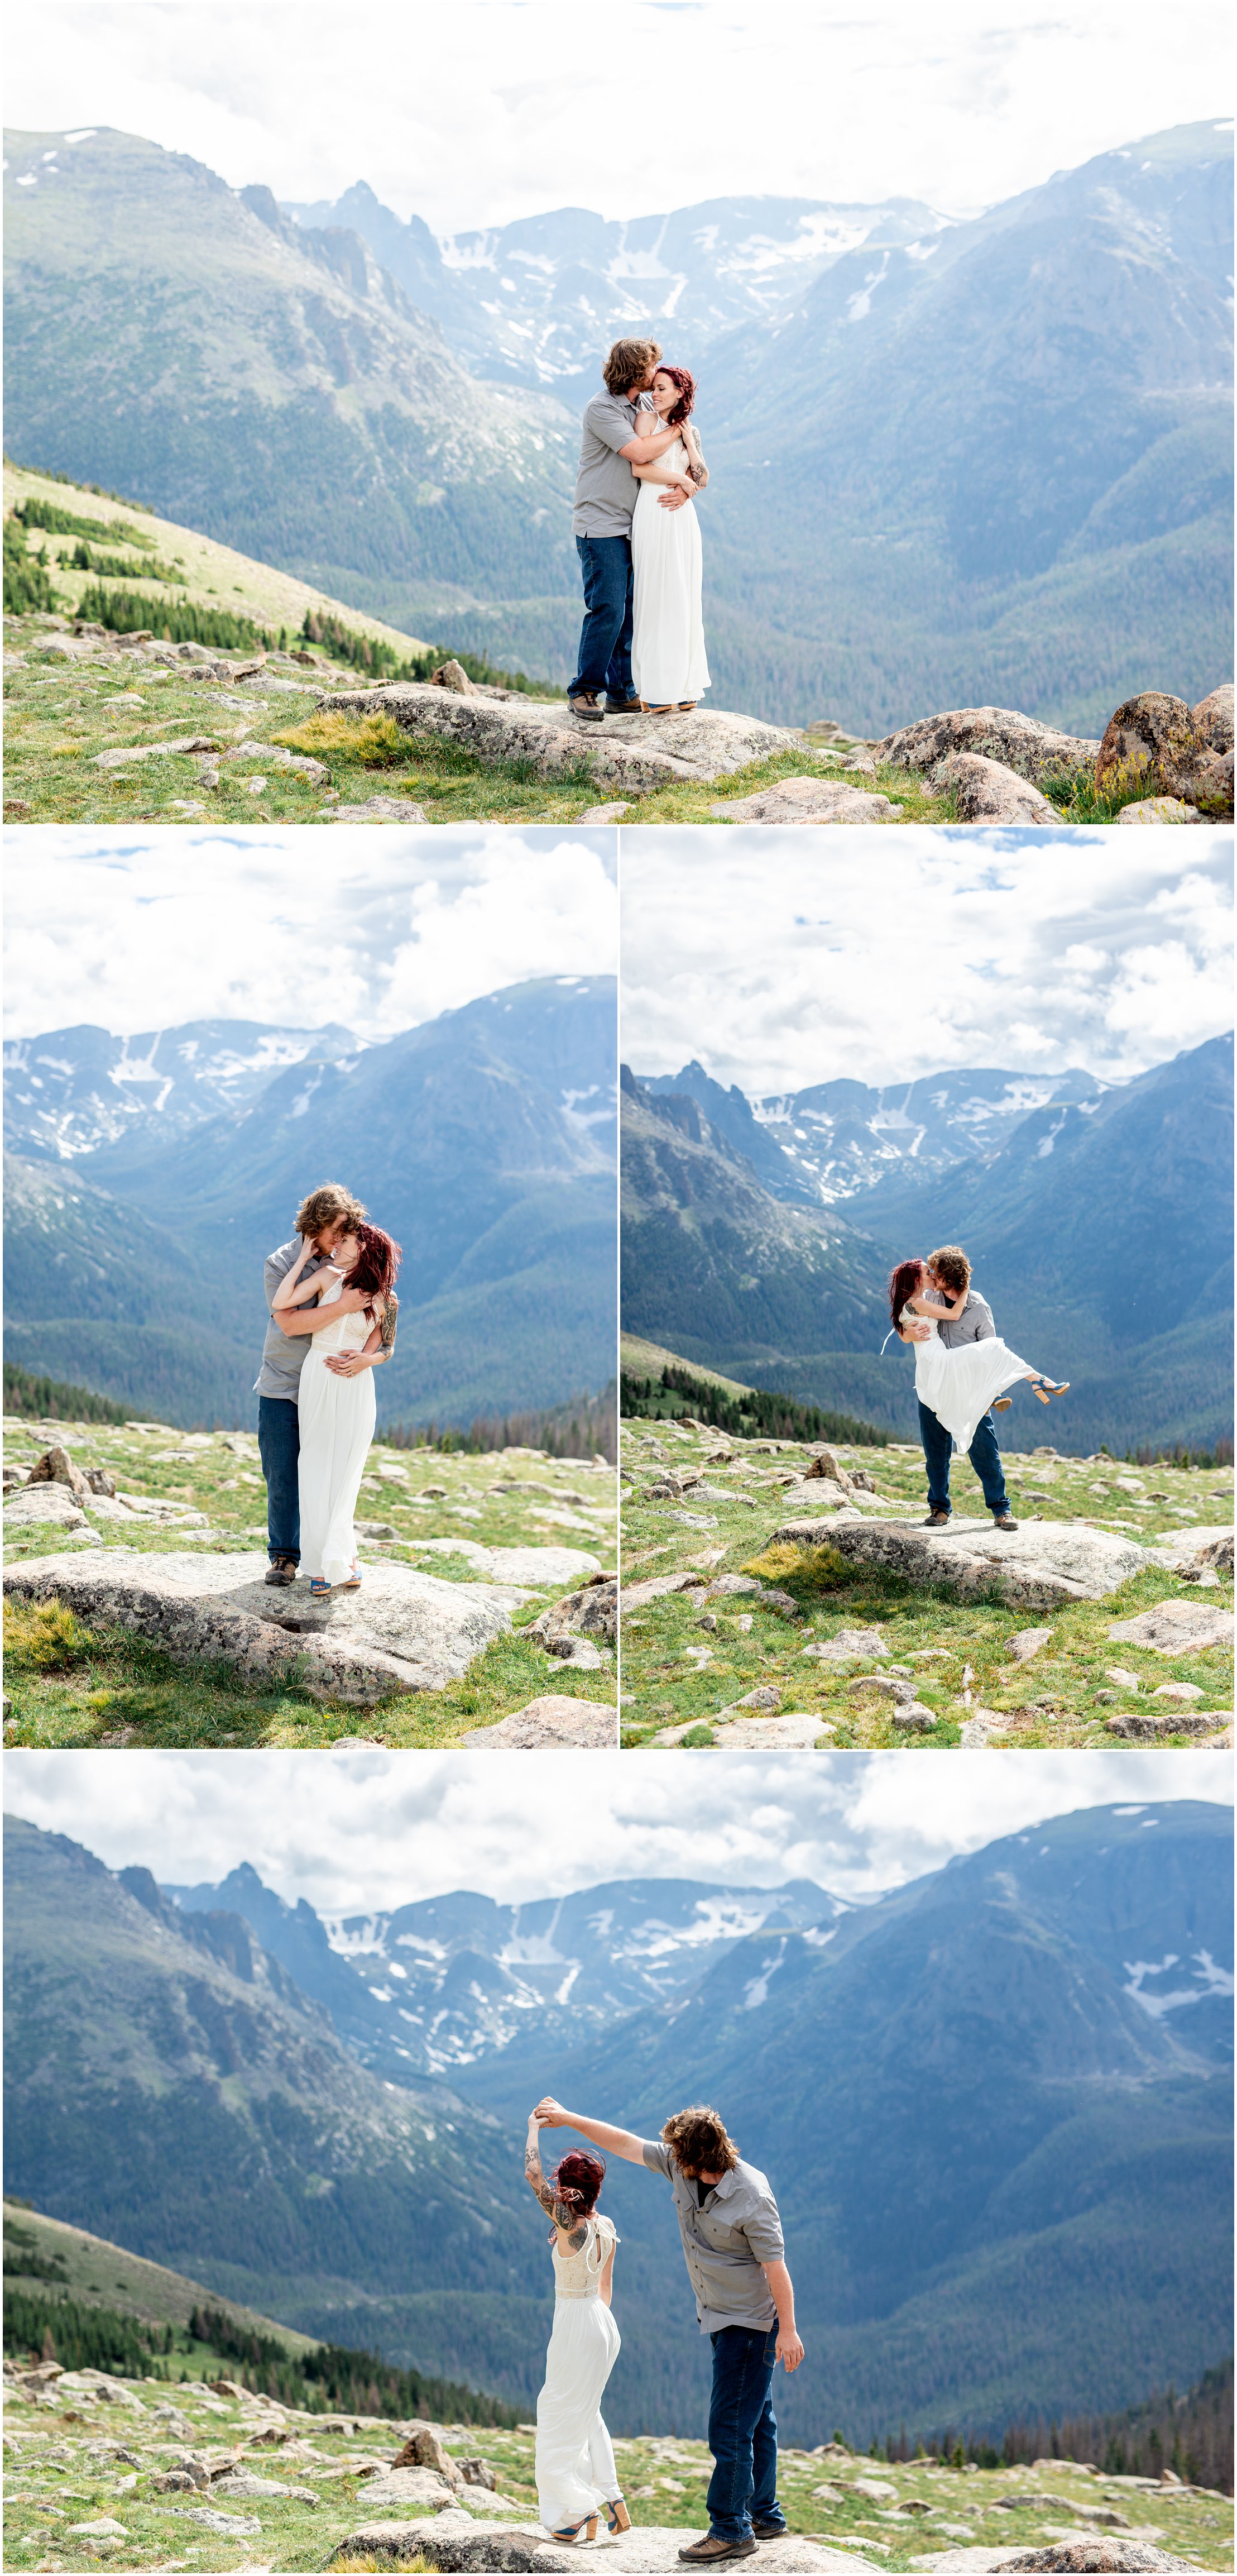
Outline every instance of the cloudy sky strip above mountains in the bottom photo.
<svg viewBox="0 0 1237 2576">
<path fill-rule="evenodd" d="M 492 1754 L 5 1754 L 5 1806 L 108 1868 L 175 1886 L 250 1860 L 320 1911 L 484 1888 L 500 1904 L 603 1878 L 812 1878 L 871 1896 L 954 1852 L 1085 1806 L 1232 1801 L 1224 1754 L 662 1754 L 588 1762 L 590 1832 L 549 1795 L 551 1757 Z"/>
</svg>

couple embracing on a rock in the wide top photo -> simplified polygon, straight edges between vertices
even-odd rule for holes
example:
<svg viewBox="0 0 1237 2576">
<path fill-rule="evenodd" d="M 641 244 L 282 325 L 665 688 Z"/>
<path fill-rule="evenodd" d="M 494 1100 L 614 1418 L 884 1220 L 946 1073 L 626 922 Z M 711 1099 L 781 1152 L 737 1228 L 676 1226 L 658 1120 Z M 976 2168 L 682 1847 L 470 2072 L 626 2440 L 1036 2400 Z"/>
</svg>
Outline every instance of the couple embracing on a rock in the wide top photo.
<svg viewBox="0 0 1237 2576">
<path fill-rule="evenodd" d="M 709 688 L 696 379 L 662 366 L 657 340 L 616 340 L 600 374 L 575 484 L 585 626 L 567 703 L 585 724 L 688 714 Z"/>
</svg>

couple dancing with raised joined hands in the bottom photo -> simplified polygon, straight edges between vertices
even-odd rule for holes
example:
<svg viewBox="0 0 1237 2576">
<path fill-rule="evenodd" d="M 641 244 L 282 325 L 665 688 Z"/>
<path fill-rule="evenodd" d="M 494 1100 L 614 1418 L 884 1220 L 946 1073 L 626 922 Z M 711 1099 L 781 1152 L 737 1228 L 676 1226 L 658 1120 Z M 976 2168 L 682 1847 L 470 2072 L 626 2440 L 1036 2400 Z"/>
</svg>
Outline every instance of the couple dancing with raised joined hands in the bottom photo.
<svg viewBox="0 0 1237 2576">
<path fill-rule="evenodd" d="M 760 2540 L 781 2540 L 778 2427 L 773 2370 L 799 2370 L 804 2347 L 794 2326 L 781 2218 L 765 2174 L 745 2164 L 714 2110 L 680 2110 L 660 2138 L 637 2138 L 606 2120 L 585 2120 L 546 2094 L 528 2115 L 523 2169 L 554 2221 L 554 2329 L 546 2385 L 536 2401 L 536 2509 L 559 2543 L 595 2537 L 598 2517 L 629 2532 L 613 2445 L 600 2401 L 618 2360 L 613 2321 L 613 2257 L 618 2236 L 598 2208 L 606 2182 L 600 2156 L 575 2151 L 554 2174 L 541 2166 L 541 2130 L 575 2128 L 608 2156 L 660 2174 L 675 2195 L 688 2280 L 701 2334 L 714 2347 L 709 2401 L 709 2532 L 678 2555 L 686 2566 L 750 2558 Z"/>
</svg>

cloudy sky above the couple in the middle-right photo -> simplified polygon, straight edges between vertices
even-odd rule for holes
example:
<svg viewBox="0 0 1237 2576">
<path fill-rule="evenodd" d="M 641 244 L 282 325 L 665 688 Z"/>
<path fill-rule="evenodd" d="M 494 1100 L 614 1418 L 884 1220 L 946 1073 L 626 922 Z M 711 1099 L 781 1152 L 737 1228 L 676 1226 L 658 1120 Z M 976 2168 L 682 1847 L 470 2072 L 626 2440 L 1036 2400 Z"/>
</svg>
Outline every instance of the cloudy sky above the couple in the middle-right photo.
<svg viewBox="0 0 1237 2576">
<path fill-rule="evenodd" d="M 1232 832 L 626 832 L 621 1043 L 747 1095 L 1126 1079 L 1232 1028 Z"/>
</svg>

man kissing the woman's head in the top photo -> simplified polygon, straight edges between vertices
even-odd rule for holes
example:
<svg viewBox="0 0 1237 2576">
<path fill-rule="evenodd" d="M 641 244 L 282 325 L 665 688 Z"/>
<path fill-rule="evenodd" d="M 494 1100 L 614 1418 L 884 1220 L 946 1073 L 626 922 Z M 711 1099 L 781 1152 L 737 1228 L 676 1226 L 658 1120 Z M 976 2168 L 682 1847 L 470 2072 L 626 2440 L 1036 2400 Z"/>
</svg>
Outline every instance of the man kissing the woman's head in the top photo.
<svg viewBox="0 0 1237 2576">
<path fill-rule="evenodd" d="M 585 577 L 585 623 L 567 703 L 588 724 L 639 708 L 631 696 L 631 513 L 639 497 L 631 466 L 649 466 L 678 438 L 678 430 L 637 433 L 639 402 L 660 355 L 657 340 L 613 343 L 600 371 L 606 392 L 593 394 L 580 438 L 572 528 Z M 657 420 L 652 410 L 647 417 Z M 686 500 L 678 487 L 660 495 L 662 510 L 683 510 Z"/>
</svg>

